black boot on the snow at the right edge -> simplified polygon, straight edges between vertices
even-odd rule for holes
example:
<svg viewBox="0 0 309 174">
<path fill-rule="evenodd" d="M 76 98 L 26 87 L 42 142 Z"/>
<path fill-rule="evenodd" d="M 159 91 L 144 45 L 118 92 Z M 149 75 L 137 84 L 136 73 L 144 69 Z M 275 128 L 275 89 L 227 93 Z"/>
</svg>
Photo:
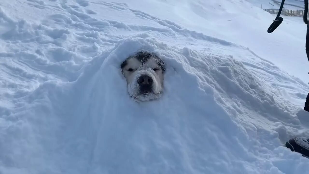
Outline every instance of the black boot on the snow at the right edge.
<svg viewBox="0 0 309 174">
<path fill-rule="evenodd" d="M 286 142 L 286 147 L 294 152 L 302 154 L 304 157 L 309 158 L 309 138 L 291 138 Z"/>
</svg>

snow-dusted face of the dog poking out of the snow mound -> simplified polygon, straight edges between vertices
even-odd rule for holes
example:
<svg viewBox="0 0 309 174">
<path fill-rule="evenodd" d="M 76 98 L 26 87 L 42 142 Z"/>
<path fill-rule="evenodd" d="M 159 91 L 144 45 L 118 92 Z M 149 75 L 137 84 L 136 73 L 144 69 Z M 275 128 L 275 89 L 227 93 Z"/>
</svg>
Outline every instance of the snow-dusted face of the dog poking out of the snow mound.
<svg viewBox="0 0 309 174">
<path fill-rule="evenodd" d="M 121 70 L 131 97 L 149 101 L 161 96 L 165 65 L 155 54 L 139 51 L 121 63 Z"/>
</svg>

